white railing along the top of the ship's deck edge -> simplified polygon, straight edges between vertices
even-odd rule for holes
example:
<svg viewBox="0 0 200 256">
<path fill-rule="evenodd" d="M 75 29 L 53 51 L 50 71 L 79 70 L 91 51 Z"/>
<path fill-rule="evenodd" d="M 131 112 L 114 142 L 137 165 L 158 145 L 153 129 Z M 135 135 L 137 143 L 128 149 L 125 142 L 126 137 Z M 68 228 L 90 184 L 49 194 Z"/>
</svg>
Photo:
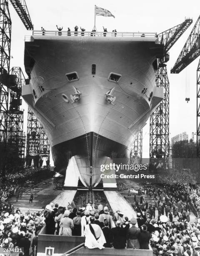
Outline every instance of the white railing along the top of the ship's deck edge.
<svg viewBox="0 0 200 256">
<path fill-rule="evenodd" d="M 158 37 L 150 32 L 95 32 L 95 31 L 32 31 L 33 36 L 108 36 L 108 37 Z M 30 41 L 31 36 L 25 36 Z"/>
</svg>

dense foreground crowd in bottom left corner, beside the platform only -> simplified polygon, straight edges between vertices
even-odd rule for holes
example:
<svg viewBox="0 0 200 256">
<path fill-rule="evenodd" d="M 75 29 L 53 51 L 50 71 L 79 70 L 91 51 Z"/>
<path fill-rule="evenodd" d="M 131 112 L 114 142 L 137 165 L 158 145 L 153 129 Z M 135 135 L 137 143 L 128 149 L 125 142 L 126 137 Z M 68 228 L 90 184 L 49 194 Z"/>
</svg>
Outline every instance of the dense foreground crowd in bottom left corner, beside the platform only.
<svg viewBox="0 0 200 256">
<path fill-rule="evenodd" d="M 29 256 L 37 253 L 37 236 L 45 225 L 41 212 L 23 213 L 5 202 L 0 207 L 0 247 L 12 253 L 19 249 L 19 255 Z"/>
</svg>

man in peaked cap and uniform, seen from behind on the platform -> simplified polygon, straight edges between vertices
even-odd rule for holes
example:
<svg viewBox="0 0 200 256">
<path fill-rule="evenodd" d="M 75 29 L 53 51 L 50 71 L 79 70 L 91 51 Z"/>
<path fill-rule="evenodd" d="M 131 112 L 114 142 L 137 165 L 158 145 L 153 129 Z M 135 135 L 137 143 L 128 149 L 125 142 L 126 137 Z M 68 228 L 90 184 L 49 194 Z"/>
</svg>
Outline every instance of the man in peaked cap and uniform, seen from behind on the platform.
<svg viewBox="0 0 200 256">
<path fill-rule="evenodd" d="M 137 219 L 132 218 L 130 220 L 130 223 L 132 224 L 132 227 L 128 229 L 127 231 L 127 248 L 135 248 L 140 249 L 140 243 L 138 240 L 139 234 L 140 234 L 140 228 L 135 227 L 137 223 Z"/>
</svg>

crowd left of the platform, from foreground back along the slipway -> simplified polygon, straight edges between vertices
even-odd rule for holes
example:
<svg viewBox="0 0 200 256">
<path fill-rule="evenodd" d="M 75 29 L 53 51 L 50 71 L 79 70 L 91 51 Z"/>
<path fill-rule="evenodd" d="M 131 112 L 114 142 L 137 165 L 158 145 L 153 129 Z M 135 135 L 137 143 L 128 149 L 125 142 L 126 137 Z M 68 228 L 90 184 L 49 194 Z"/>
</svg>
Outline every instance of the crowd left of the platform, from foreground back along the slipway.
<svg viewBox="0 0 200 256">
<path fill-rule="evenodd" d="M 22 196 L 21 184 L 37 182 L 48 175 L 51 172 L 47 173 L 46 168 L 26 168 L 0 176 L 0 247 L 10 250 L 24 248 L 25 256 L 36 250 L 37 234 L 45 224 L 45 218 L 40 216 L 41 212 L 31 214 L 29 210 L 23 213 L 14 209 L 9 200 L 13 195 L 16 195 L 16 200 Z"/>
</svg>

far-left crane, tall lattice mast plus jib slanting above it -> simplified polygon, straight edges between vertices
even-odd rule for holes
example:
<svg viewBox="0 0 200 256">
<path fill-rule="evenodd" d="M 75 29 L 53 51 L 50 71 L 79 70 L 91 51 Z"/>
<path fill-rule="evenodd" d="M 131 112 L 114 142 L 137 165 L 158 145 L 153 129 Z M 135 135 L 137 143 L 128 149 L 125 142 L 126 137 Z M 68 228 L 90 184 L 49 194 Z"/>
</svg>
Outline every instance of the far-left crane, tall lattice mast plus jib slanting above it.
<svg viewBox="0 0 200 256">
<path fill-rule="evenodd" d="M 27 29 L 33 29 L 25 0 L 10 0 L 20 19 Z M 7 161 L 7 124 L 9 90 L 12 90 L 12 77 L 10 77 L 10 43 L 11 18 L 8 0 L 0 0 L 0 168 L 5 173 Z"/>
</svg>

